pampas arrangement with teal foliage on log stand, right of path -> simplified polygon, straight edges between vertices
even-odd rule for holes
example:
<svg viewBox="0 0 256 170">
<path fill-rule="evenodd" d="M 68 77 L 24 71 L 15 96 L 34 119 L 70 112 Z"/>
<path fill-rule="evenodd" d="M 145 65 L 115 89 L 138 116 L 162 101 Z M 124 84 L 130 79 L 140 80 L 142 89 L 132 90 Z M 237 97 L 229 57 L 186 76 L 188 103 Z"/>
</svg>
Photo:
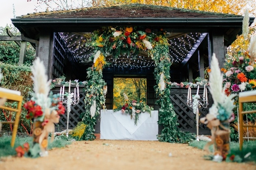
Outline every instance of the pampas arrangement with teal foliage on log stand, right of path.
<svg viewBox="0 0 256 170">
<path fill-rule="evenodd" d="M 206 117 L 201 118 L 202 123 L 207 124 L 211 130 L 211 142 L 208 142 L 204 149 L 208 150 L 211 144 L 214 144 L 214 161 L 225 160 L 229 153 L 230 142 L 230 121 L 234 120 L 232 109 L 234 108 L 234 98 L 236 94 L 227 96 L 225 87 L 223 88 L 223 75 L 219 69 L 219 63 L 213 53 L 209 73 L 209 91 L 213 98 L 213 105 L 209 108 Z M 232 119 L 231 119 L 232 118 Z"/>
</svg>

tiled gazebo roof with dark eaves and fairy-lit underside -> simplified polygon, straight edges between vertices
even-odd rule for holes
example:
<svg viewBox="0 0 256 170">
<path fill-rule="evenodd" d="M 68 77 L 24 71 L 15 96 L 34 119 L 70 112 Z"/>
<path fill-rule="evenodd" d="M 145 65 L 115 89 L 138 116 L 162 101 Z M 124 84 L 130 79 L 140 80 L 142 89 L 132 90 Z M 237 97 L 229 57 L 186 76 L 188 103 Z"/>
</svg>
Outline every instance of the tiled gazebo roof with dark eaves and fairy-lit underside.
<svg viewBox="0 0 256 170">
<path fill-rule="evenodd" d="M 224 45 L 230 45 L 236 39 L 236 35 L 242 32 L 243 16 L 168 6 L 120 3 L 29 13 L 11 20 L 24 36 L 35 40 L 39 40 L 40 32 L 63 32 L 67 46 L 78 58 L 88 57 L 90 53 L 87 50 L 78 53 L 76 49 L 80 40 L 83 40 L 83 35 L 100 26 L 161 28 L 170 33 L 167 37 L 171 45 L 170 54 L 175 53 L 174 60 L 182 62 L 198 42 L 198 38 L 202 38 L 203 33 L 223 34 Z M 250 18 L 250 24 L 253 20 L 254 18 Z"/>
</svg>

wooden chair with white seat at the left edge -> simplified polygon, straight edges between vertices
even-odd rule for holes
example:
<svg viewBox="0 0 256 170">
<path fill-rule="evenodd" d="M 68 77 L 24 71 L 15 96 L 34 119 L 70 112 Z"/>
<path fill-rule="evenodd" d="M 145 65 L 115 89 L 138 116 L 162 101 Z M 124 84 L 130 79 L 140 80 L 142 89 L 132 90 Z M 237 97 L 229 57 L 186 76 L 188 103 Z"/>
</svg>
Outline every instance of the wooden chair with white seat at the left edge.
<svg viewBox="0 0 256 170">
<path fill-rule="evenodd" d="M 18 124 L 19 124 L 19 120 L 20 120 L 20 112 L 21 112 L 22 98 L 23 97 L 21 96 L 20 91 L 4 89 L 4 88 L 0 87 L 0 98 L 7 99 L 7 101 L 9 100 L 9 101 L 18 102 L 17 108 L 11 108 L 11 107 L 7 107 L 7 106 L 0 106 L 0 109 L 10 110 L 10 111 L 15 111 L 16 112 L 15 121 L 2 121 L 2 122 L 0 122 L 0 125 L 3 124 L 3 123 L 14 123 L 13 134 L 12 134 L 12 138 L 11 138 L 11 147 L 13 147 L 14 143 L 15 143 L 17 130 L 18 130 Z"/>
</svg>

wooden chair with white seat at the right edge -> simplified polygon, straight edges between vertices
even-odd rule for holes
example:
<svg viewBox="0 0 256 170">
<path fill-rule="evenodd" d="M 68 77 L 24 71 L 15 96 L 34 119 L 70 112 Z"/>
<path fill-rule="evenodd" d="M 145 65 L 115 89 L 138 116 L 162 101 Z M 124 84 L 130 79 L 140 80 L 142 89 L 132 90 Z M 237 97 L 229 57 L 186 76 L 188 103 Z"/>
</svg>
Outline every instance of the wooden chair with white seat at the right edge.
<svg viewBox="0 0 256 170">
<path fill-rule="evenodd" d="M 256 113 L 256 110 L 243 110 L 243 103 L 256 103 L 256 90 L 244 91 L 239 93 L 239 145 L 243 148 L 243 127 L 256 127 L 256 125 L 244 125 L 243 115 Z"/>
</svg>

